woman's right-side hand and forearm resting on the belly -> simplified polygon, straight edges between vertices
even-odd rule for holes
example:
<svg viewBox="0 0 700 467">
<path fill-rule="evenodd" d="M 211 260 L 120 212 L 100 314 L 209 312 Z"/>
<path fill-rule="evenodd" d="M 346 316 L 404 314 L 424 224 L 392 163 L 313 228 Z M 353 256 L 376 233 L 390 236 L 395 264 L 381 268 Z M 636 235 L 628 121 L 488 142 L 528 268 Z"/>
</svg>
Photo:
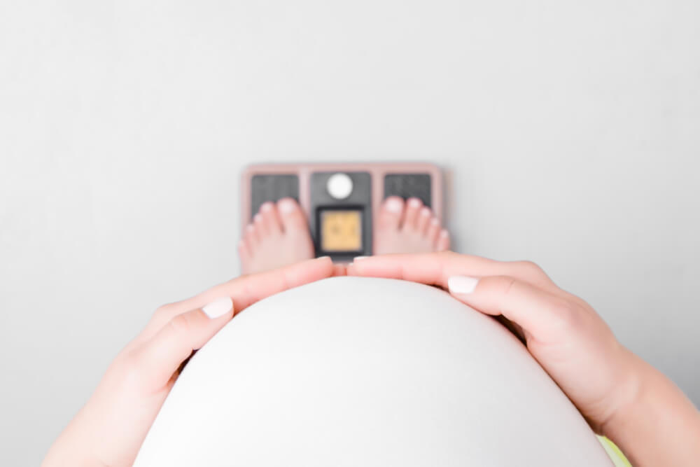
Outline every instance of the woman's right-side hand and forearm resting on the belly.
<svg viewBox="0 0 700 467">
<path fill-rule="evenodd" d="M 700 414 L 692 403 L 537 265 L 445 252 L 356 258 L 347 274 L 437 285 L 480 312 L 503 315 L 594 431 L 635 466 L 698 465 Z"/>
</svg>

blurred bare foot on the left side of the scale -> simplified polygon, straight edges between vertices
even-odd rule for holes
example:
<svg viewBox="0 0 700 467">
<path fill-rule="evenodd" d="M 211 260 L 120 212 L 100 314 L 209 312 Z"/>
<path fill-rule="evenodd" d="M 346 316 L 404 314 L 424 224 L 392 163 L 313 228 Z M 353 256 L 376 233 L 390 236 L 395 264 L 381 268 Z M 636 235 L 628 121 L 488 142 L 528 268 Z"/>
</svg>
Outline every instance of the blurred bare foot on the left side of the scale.
<svg viewBox="0 0 700 467">
<path fill-rule="evenodd" d="M 238 245 L 241 272 L 267 271 L 314 258 L 309 225 L 299 204 L 291 198 L 265 202 L 246 227 Z"/>
</svg>

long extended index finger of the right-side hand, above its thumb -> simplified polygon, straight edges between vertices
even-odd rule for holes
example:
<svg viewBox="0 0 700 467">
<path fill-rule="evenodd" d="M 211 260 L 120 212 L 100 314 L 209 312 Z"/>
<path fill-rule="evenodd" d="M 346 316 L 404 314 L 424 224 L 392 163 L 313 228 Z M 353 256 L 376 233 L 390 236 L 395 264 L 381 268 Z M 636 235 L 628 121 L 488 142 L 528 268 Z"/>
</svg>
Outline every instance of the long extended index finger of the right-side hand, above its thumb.
<svg viewBox="0 0 700 467">
<path fill-rule="evenodd" d="M 544 271 L 529 261 L 503 262 L 445 251 L 442 253 L 394 254 L 356 258 L 347 268 L 349 276 L 404 279 L 447 288 L 451 276 L 510 276 L 547 291 L 559 288 Z"/>
</svg>

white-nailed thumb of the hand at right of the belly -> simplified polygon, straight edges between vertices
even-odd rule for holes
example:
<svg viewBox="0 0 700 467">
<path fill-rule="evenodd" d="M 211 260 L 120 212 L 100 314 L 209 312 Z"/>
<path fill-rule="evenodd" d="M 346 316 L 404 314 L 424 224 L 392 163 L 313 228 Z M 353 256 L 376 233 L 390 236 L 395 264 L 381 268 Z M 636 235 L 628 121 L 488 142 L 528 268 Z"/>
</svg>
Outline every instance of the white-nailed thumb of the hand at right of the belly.
<svg viewBox="0 0 700 467">
<path fill-rule="evenodd" d="M 540 343 L 558 339 L 580 318 L 574 302 L 508 276 L 454 276 L 448 290 L 479 312 L 503 315 Z"/>
</svg>

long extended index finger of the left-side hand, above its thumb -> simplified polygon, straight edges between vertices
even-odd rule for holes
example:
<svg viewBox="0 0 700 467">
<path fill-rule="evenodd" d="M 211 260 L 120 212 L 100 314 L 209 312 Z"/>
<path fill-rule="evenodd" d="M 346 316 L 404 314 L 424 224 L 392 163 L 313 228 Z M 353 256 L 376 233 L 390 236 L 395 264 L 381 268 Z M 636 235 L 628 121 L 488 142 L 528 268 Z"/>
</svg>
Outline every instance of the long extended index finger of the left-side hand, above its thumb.
<svg viewBox="0 0 700 467">
<path fill-rule="evenodd" d="M 276 270 L 237 277 L 214 286 L 200 295 L 160 307 L 153 314 L 153 318 L 146 325 L 139 339 L 147 339 L 155 334 L 174 316 L 188 312 L 190 309 L 202 307 L 216 298 L 231 297 L 236 312 L 239 313 L 262 298 L 285 291 L 288 288 L 331 277 L 334 272 L 333 263 L 326 256 L 294 263 Z"/>
</svg>

